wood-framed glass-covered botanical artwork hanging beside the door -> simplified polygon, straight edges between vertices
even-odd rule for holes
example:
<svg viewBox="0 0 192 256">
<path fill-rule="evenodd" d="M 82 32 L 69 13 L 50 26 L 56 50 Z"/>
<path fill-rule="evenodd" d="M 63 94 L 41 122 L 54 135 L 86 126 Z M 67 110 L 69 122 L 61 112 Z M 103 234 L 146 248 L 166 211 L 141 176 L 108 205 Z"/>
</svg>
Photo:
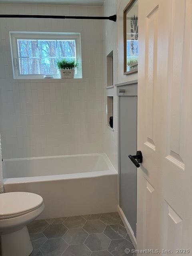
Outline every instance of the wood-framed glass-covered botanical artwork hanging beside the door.
<svg viewBox="0 0 192 256">
<path fill-rule="evenodd" d="M 138 71 L 138 0 L 123 11 L 124 75 Z"/>
</svg>

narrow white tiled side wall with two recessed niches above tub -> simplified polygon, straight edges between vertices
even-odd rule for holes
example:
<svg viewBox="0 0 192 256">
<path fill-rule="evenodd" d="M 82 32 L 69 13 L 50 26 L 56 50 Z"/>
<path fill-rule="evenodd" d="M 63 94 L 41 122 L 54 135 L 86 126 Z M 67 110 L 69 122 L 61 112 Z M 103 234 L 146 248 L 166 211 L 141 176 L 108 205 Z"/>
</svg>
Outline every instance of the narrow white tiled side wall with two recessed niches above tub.
<svg viewBox="0 0 192 256">
<path fill-rule="evenodd" d="M 112 14 L 117 14 L 117 1 L 116 0 L 106 0 L 103 6 L 104 16 L 110 16 Z M 118 83 L 118 44 L 117 44 L 117 22 L 105 21 L 104 26 L 104 84 L 107 85 L 106 80 L 106 56 L 113 51 L 113 80 L 114 84 Z M 113 96 L 113 128 L 114 131 L 108 128 L 106 124 L 107 115 L 106 111 L 103 113 L 103 122 L 105 130 L 105 143 L 104 152 L 110 158 L 114 168 L 118 170 L 118 125 L 117 125 L 117 96 L 116 87 L 106 89 L 105 96 L 105 108 L 106 108 L 106 98 L 107 96 Z"/>
</svg>

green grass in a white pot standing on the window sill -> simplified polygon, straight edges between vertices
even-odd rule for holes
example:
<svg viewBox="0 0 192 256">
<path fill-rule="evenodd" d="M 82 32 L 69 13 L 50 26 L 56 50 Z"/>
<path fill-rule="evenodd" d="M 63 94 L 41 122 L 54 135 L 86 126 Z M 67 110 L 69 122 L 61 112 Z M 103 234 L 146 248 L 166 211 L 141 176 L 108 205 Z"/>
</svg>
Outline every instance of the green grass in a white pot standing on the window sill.
<svg viewBox="0 0 192 256">
<path fill-rule="evenodd" d="M 74 78 L 75 70 L 78 68 L 76 60 L 58 60 L 57 67 L 60 72 L 60 78 Z"/>
</svg>

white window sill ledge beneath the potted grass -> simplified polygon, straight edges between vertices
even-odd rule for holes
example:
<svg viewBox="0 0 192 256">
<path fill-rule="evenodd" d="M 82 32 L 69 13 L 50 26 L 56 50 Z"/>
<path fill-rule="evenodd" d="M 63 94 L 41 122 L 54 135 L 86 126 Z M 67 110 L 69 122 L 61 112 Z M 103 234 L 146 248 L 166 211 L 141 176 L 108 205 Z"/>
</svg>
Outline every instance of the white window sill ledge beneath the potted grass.
<svg viewBox="0 0 192 256">
<path fill-rule="evenodd" d="M 28 83 L 54 83 L 54 82 L 72 82 L 72 83 L 79 83 L 79 82 L 86 82 L 86 80 L 84 78 L 14 78 L 13 79 L 13 83 L 24 83 L 24 82 L 28 82 Z"/>
</svg>

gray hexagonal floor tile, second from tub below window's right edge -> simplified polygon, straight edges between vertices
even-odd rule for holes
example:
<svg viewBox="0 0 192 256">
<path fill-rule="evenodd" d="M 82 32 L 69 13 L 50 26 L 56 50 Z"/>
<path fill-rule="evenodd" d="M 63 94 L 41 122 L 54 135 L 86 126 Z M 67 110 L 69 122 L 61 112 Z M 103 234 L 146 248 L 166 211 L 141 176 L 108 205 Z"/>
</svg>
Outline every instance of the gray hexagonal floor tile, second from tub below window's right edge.
<svg viewBox="0 0 192 256">
<path fill-rule="evenodd" d="M 68 244 L 83 244 L 88 234 L 82 228 L 69 229 L 62 237 Z"/>
</svg>

